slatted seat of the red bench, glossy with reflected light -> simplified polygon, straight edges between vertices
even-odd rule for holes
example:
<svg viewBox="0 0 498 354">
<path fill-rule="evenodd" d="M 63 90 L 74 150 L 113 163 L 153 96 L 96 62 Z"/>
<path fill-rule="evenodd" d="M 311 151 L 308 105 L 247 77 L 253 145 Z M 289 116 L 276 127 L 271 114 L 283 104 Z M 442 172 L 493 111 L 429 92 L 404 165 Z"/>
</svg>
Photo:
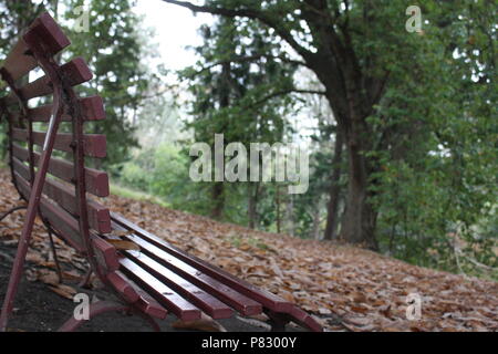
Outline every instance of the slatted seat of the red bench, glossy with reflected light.
<svg viewBox="0 0 498 354">
<path fill-rule="evenodd" d="M 201 312 L 227 319 L 236 311 L 243 316 L 270 311 L 311 331 L 321 331 L 314 319 L 293 303 L 188 254 L 118 214 L 111 212 L 111 219 L 116 231 L 111 235 L 120 235 L 122 240 L 139 247 L 139 251 L 118 251 L 120 273 L 156 300 L 165 312 L 189 321 L 200 319 Z"/>
</svg>

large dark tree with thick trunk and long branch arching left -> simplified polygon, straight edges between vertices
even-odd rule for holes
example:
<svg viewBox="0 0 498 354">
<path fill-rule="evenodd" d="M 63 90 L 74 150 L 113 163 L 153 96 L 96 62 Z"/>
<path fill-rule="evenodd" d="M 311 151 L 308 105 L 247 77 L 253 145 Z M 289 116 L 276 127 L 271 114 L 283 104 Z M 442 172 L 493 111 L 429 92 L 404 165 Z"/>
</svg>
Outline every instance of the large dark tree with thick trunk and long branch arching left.
<svg viewBox="0 0 498 354">
<path fill-rule="evenodd" d="M 377 176 L 383 171 L 382 152 L 393 147 L 392 137 L 397 136 L 393 134 L 393 126 L 403 132 L 414 126 L 416 133 L 416 124 L 424 126 L 427 121 L 416 116 L 409 122 L 406 102 L 385 97 L 385 93 L 394 85 L 403 87 L 408 95 L 425 87 L 437 87 L 430 71 L 449 59 L 445 50 L 450 44 L 439 34 L 447 39 L 444 30 L 460 23 L 458 12 L 468 14 L 473 4 L 422 1 L 422 15 L 427 22 L 422 22 L 422 31 L 408 33 L 405 29 L 407 4 L 401 0 L 206 0 L 201 6 L 164 1 L 194 12 L 259 22 L 271 28 L 274 35 L 301 56 L 302 64 L 313 71 L 325 87 L 338 128 L 344 136 L 349 187 L 342 237 L 376 249 L 378 208 L 373 199 L 378 190 Z M 488 6 L 496 4 L 488 1 Z M 479 31 L 478 21 L 465 21 Z M 484 32 L 487 30 L 489 28 Z M 422 108 L 416 105 L 430 105 L 430 97 L 424 95 L 423 98 L 414 97 L 408 102 L 418 110 L 417 114 Z M 382 114 L 381 110 L 391 111 Z M 397 114 L 393 115 L 396 110 Z M 435 111 L 427 107 L 426 113 Z"/>
</svg>

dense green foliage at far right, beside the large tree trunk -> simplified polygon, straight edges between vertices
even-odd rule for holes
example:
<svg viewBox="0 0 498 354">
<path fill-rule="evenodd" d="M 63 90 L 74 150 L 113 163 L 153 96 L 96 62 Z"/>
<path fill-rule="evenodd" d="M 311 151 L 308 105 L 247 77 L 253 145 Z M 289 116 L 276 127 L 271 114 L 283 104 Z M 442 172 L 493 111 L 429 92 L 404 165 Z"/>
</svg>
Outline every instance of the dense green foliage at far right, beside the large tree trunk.
<svg viewBox="0 0 498 354">
<path fill-rule="evenodd" d="M 370 117 L 391 146 L 370 153 L 382 249 L 477 274 L 498 266 L 497 233 L 478 227 L 496 220 L 498 196 L 496 29 L 483 4 L 428 7 L 413 70 L 392 73 Z"/>
</svg>

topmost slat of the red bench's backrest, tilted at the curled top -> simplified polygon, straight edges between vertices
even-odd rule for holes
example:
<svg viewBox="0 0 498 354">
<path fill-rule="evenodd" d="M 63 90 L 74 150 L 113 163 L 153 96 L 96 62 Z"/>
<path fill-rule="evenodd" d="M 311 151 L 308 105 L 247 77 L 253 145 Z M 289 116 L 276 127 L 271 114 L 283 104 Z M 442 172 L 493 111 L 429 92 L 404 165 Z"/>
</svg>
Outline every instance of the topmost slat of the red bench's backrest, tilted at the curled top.
<svg viewBox="0 0 498 354">
<path fill-rule="evenodd" d="M 50 17 L 49 13 L 42 13 L 28 29 L 39 33 L 49 54 L 54 55 L 71 44 L 70 40 L 62 32 L 61 28 Z M 38 62 L 32 55 L 27 54 L 28 45 L 21 38 L 7 56 L 3 67 L 8 71 L 13 81 L 24 76 L 31 70 L 38 66 Z"/>
</svg>

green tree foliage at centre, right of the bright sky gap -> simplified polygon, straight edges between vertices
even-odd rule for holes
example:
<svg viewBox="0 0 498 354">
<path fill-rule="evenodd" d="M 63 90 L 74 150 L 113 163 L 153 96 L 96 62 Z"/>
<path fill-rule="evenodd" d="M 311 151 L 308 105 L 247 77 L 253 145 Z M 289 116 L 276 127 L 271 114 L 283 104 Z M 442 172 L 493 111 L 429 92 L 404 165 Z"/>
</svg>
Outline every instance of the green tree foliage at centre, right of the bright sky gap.
<svg viewBox="0 0 498 354">
<path fill-rule="evenodd" d="M 222 133 L 225 144 L 282 142 L 290 132 L 284 114 L 292 100 L 279 93 L 292 90 L 295 67 L 264 56 L 278 51 L 281 43 L 268 29 L 238 19 L 220 19 L 210 28 L 203 27 L 200 33 L 205 41 L 196 49 L 200 60 L 181 72 L 194 95 L 193 119 L 186 128 L 194 131 L 195 140 L 214 146 L 215 134 Z M 232 222 L 267 216 L 261 210 L 247 215 L 249 199 L 258 199 L 267 186 L 222 184 L 219 196 L 212 196 L 217 186 L 211 183 L 201 187 L 206 210 L 222 209 L 222 218 Z"/>
</svg>

